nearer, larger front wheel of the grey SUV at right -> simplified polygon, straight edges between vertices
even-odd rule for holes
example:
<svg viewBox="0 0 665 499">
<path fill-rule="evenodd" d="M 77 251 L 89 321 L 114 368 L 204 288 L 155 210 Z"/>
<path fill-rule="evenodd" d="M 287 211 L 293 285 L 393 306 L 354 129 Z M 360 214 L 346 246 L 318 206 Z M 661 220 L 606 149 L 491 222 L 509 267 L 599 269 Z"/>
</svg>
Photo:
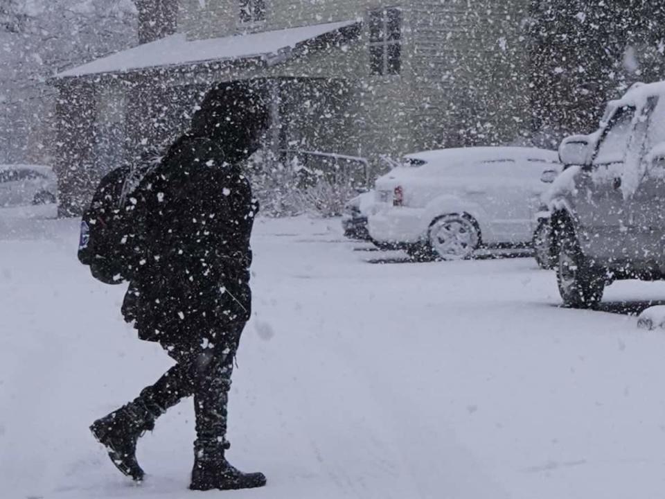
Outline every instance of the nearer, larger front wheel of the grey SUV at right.
<svg viewBox="0 0 665 499">
<path fill-rule="evenodd" d="M 567 307 L 592 308 L 603 299 L 605 272 L 584 256 L 570 230 L 559 241 L 556 281 L 563 304 Z"/>
</svg>

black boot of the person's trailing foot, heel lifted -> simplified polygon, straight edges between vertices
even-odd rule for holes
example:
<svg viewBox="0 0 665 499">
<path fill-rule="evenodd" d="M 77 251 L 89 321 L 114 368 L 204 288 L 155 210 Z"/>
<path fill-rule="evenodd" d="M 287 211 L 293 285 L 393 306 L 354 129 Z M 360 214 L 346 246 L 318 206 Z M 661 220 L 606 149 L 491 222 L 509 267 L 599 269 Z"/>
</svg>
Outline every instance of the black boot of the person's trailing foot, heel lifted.
<svg viewBox="0 0 665 499">
<path fill-rule="evenodd" d="M 90 431 L 108 450 L 118 470 L 135 480 L 143 480 L 143 469 L 136 461 L 136 441 L 146 431 L 152 431 L 154 420 L 163 412 L 141 397 L 123 405 L 90 426 Z"/>
</svg>

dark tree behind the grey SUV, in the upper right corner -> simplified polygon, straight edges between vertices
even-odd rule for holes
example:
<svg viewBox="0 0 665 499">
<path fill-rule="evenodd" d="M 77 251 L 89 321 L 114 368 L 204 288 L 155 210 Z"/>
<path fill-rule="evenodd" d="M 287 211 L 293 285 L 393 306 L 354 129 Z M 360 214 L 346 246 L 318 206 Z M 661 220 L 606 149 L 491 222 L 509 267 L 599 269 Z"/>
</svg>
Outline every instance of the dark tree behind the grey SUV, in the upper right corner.
<svg viewBox="0 0 665 499">
<path fill-rule="evenodd" d="M 665 78 L 665 6 L 650 0 L 535 0 L 533 130 L 589 132 L 603 104 L 636 81 Z"/>
</svg>

